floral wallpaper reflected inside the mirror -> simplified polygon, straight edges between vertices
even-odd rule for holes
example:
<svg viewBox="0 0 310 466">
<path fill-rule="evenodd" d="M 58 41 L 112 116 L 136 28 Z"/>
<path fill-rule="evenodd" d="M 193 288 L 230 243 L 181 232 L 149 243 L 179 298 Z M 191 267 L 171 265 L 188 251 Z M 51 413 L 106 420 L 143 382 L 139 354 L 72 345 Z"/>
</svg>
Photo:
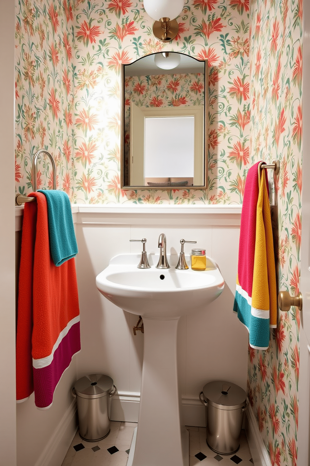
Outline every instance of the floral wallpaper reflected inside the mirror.
<svg viewBox="0 0 310 466">
<path fill-rule="evenodd" d="M 161 74 L 125 77 L 125 185 L 130 151 L 130 104 L 138 107 L 204 106 L 204 75 Z"/>
</svg>

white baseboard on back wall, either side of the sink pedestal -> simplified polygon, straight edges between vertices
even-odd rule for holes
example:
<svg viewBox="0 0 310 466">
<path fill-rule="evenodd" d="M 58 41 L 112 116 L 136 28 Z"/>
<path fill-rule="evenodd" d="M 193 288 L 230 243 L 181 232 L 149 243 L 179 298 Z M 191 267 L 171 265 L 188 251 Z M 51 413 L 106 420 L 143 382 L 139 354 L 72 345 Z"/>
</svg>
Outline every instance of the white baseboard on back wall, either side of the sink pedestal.
<svg viewBox="0 0 310 466">
<path fill-rule="evenodd" d="M 158 403 L 160 400 L 158 399 Z M 138 422 L 140 393 L 119 391 L 111 398 L 111 420 Z M 205 427 L 204 405 L 199 397 L 182 396 L 184 425 Z"/>
</svg>

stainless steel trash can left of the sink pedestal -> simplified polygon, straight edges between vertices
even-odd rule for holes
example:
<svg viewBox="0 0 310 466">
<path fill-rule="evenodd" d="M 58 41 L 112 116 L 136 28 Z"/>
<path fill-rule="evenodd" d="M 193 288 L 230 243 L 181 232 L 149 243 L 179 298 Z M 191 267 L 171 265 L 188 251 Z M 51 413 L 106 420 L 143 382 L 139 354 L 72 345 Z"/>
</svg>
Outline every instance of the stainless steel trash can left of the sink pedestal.
<svg viewBox="0 0 310 466">
<path fill-rule="evenodd" d="M 75 382 L 72 393 L 77 400 L 82 439 L 97 442 L 109 434 L 110 398 L 115 392 L 112 378 L 102 374 L 91 374 Z"/>
</svg>

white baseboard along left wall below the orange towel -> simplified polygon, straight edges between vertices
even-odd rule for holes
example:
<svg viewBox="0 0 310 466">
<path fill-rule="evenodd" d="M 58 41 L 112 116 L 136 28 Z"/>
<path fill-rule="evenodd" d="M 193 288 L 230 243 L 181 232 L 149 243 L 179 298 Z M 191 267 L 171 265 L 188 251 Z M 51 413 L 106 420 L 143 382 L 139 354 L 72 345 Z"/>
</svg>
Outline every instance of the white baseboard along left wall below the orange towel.
<svg viewBox="0 0 310 466">
<path fill-rule="evenodd" d="M 74 399 L 34 466 L 61 465 L 77 429 L 77 406 Z"/>
</svg>

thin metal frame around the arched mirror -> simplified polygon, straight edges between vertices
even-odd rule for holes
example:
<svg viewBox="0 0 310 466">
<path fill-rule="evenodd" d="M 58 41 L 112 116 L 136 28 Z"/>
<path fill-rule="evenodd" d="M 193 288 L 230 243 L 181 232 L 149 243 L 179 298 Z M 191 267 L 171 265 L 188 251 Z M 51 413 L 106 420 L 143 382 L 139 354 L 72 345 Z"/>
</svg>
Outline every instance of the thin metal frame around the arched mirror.
<svg viewBox="0 0 310 466">
<path fill-rule="evenodd" d="M 161 52 L 158 52 L 161 53 Z M 179 53 L 179 52 L 178 52 Z M 150 55 L 156 55 L 156 54 L 150 54 Z M 180 53 L 180 55 L 185 55 Z M 147 55 L 145 55 L 147 56 Z M 141 57 L 135 62 L 143 59 L 145 57 Z M 161 191 L 167 191 L 167 190 L 204 190 L 207 188 L 207 154 L 208 154 L 208 61 L 207 60 L 198 60 L 195 57 L 190 57 L 194 60 L 197 60 L 198 62 L 204 62 L 204 124 L 203 124 L 203 130 L 204 130 L 204 184 L 203 185 L 195 185 L 195 186 L 178 186 L 178 185 L 125 185 L 124 183 L 124 175 L 125 175 L 125 66 L 124 64 L 121 65 L 121 124 L 120 124 L 120 130 L 121 130 L 121 165 L 120 165 L 120 184 L 121 184 L 121 189 L 122 190 L 161 190 Z M 134 62 L 132 62 L 134 63 Z M 132 64 L 130 63 L 130 64 Z M 160 73 L 158 73 L 160 74 Z"/>
</svg>

